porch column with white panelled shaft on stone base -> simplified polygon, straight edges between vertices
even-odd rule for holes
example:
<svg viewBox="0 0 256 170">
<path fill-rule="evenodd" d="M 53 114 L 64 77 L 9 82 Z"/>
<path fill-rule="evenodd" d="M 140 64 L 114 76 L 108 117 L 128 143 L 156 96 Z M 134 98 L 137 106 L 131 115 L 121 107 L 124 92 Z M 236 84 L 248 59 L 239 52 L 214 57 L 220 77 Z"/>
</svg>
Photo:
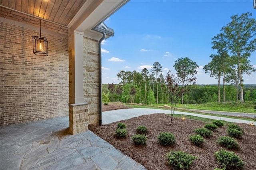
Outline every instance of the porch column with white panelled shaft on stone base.
<svg viewBox="0 0 256 170">
<path fill-rule="evenodd" d="M 88 103 L 84 102 L 83 32 L 69 30 L 69 131 L 71 134 L 88 130 Z"/>
</svg>

